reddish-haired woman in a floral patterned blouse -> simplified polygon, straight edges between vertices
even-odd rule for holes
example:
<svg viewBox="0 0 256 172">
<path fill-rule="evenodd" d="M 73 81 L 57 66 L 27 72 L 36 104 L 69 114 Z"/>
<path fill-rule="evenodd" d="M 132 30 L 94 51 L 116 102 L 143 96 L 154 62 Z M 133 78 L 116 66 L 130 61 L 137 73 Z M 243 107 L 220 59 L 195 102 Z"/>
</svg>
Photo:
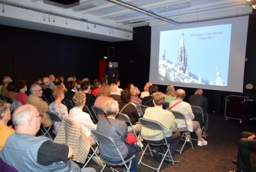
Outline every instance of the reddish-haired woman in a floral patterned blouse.
<svg viewBox="0 0 256 172">
<path fill-rule="evenodd" d="M 62 86 L 57 85 L 53 87 L 53 98 L 55 99 L 53 103 L 49 105 L 49 111 L 53 112 L 61 120 L 64 118 L 68 118 L 68 108 L 66 105 L 62 104 L 62 100 L 64 99 L 64 89 Z M 53 133 L 57 135 L 59 129 L 60 129 L 61 122 L 53 122 Z"/>
</svg>

